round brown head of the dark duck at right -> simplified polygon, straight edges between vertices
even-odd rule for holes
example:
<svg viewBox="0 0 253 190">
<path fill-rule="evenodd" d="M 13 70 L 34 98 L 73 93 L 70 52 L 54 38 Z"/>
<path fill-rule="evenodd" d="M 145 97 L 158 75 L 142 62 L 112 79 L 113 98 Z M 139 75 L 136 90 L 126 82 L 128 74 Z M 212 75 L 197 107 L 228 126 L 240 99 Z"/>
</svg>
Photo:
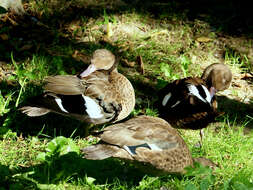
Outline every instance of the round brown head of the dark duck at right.
<svg viewBox="0 0 253 190">
<path fill-rule="evenodd" d="M 217 91 L 222 91 L 230 86 L 232 72 L 227 65 L 214 63 L 204 70 L 201 78 L 206 81 L 209 89 L 214 87 Z"/>
</svg>

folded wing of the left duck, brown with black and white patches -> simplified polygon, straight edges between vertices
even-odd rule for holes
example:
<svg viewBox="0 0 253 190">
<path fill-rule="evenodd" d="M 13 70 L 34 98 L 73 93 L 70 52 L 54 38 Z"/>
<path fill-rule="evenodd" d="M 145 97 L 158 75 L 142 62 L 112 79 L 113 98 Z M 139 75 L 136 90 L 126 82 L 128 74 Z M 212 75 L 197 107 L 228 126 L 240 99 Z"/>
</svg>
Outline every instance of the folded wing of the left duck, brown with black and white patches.
<svg viewBox="0 0 253 190">
<path fill-rule="evenodd" d="M 44 96 L 33 104 L 36 108 L 23 107 L 21 110 L 30 116 L 40 116 L 46 109 L 47 112 L 49 110 L 94 124 L 114 121 L 121 105 L 113 96 L 108 77 L 96 73 L 85 80 L 70 75 L 47 77 Z M 40 111 L 38 108 L 41 108 Z"/>
</svg>

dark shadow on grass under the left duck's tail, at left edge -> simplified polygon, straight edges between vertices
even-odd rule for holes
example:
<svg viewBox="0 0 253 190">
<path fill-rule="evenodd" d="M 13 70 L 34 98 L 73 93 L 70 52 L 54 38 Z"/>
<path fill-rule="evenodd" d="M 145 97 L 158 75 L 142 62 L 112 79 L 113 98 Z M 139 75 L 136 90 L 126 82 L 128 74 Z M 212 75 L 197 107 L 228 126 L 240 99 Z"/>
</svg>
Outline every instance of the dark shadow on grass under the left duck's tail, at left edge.
<svg viewBox="0 0 253 190">
<path fill-rule="evenodd" d="M 12 92 L 12 99 L 17 99 L 20 87 L 17 85 L 10 86 L 5 82 L 0 83 L 1 93 L 5 94 Z M 29 97 L 42 93 L 40 85 L 29 84 L 25 92 L 22 93 L 22 102 L 16 107 L 15 101 L 10 101 L 8 108 L 10 109 L 7 114 L 0 117 L 0 135 L 4 135 L 11 129 L 17 132 L 18 135 L 22 134 L 24 137 L 45 135 L 48 137 L 56 136 L 84 136 L 87 124 L 76 121 L 75 119 L 63 117 L 57 114 L 47 114 L 41 117 L 28 117 L 22 114 L 18 108 L 29 104 Z"/>
</svg>

